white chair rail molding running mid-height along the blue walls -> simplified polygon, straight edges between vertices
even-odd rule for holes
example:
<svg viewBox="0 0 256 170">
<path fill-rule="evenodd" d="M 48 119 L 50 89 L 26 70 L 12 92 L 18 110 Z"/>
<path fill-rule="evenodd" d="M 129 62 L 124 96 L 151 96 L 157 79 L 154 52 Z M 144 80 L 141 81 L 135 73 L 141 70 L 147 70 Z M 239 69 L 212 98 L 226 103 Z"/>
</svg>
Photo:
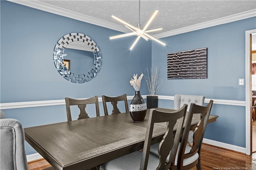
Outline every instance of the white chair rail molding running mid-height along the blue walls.
<svg viewBox="0 0 256 170">
<path fill-rule="evenodd" d="M 132 100 L 134 96 L 127 96 L 127 100 Z M 143 99 L 147 98 L 147 95 L 142 95 Z M 87 98 L 85 98 L 87 99 Z M 163 96 L 158 95 L 158 99 L 163 100 L 174 100 L 174 96 Z M 102 102 L 102 97 L 98 98 L 99 102 Z M 205 99 L 204 102 L 209 102 L 211 99 Z M 223 100 L 223 99 L 212 99 L 214 104 L 219 105 L 235 105 L 235 106 L 246 106 L 246 101 L 235 101 L 235 100 Z M 0 109 L 18 109 L 26 107 L 41 107 L 41 106 L 54 106 L 54 105 L 65 105 L 65 100 L 48 100 L 48 101 L 25 101 L 25 102 L 13 102 L 13 103 L 0 103 Z"/>
</svg>

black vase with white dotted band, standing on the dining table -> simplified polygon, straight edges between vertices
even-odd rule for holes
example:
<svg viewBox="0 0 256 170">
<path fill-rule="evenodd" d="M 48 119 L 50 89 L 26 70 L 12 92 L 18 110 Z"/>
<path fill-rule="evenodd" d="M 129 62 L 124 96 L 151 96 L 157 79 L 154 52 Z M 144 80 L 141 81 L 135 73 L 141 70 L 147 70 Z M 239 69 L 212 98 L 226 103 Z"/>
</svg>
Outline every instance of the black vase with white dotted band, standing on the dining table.
<svg viewBox="0 0 256 170">
<path fill-rule="evenodd" d="M 130 115 L 134 122 L 144 121 L 147 113 L 147 105 L 144 99 L 140 95 L 140 91 L 135 92 L 130 103 Z"/>
</svg>

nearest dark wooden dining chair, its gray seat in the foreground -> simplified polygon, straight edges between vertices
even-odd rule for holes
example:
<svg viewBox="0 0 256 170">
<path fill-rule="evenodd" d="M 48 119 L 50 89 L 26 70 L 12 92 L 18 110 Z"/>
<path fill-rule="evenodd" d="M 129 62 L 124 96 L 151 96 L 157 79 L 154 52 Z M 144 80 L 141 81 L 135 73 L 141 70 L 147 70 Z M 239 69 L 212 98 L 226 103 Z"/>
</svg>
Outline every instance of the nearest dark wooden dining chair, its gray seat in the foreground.
<svg viewBox="0 0 256 170">
<path fill-rule="evenodd" d="M 156 109 L 150 109 L 148 118 L 148 127 L 146 130 L 146 137 L 143 151 L 135 151 L 122 157 L 111 160 L 103 164 L 101 170 L 146 170 L 146 169 L 174 169 L 174 161 L 178 149 L 180 134 L 184 124 L 184 117 L 188 105 L 184 105 L 178 111 L 163 112 Z M 167 129 L 162 141 L 159 145 L 159 157 L 149 153 L 154 123 L 167 122 Z M 176 124 L 177 123 L 177 124 Z M 176 125 L 176 133 L 174 135 L 173 129 Z M 166 159 L 168 157 L 168 164 Z"/>
</svg>

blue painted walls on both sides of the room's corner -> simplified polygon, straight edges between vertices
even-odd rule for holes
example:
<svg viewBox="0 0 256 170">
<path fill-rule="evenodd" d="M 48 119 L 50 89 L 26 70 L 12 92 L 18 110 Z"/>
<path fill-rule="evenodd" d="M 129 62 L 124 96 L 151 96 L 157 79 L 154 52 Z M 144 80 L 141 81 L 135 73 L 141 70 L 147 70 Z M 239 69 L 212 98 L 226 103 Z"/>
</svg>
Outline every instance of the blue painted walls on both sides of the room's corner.
<svg viewBox="0 0 256 170">
<path fill-rule="evenodd" d="M 132 75 L 151 65 L 159 67 L 163 79 L 159 95 L 245 101 L 245 86 L 238 86 L 238 78 L 245 78 L 245 31 L 256 28 L 255 17 L 162 38 L 166 47 L 141 39 L 129 51 L 135 38 L 109 40 L 120 34 L 114 30 L 8 1 L 0 1 L 0 9 L 0 103 L 134 95 L 129 83 Z M 100 72 L 86 83 L 68 82 L 53 63 L 56 42 L 71 32 L 88 35 L 102 54 Z M 203 47 L 208 48 L 208 79 L 167 79 L 167 53 Z M 145 81 L 141 93 L 148 94 Z M 159 107 L 173 108 L 173 101 L 160 100 Z M 24 127 L 67 120 L 64 105 L 4 112 Z M 104 115 L 101 104 L 100 114 Z M 212 114 L 219 118 L 208 125 L 205 138 L 245 147 L 245 107 L 214 104 Z M 26 153 L 35 153 L 27 143 Z"/>
</svg>

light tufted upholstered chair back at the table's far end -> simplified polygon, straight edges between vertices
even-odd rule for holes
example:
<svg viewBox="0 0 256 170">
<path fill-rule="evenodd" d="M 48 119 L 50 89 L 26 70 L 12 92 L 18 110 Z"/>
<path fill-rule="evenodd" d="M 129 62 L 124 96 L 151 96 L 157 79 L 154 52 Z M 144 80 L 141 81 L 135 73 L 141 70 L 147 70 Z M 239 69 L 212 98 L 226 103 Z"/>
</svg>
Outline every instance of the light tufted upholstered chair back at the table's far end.
<svg viewBox="0 0 256 170">
<path fill-rule="evenodd" d="M 174 109 L 180 109 L 184 104 L 188 105 L 187 111 L 190 109 L 190 104 L 195 103 L 196 105 L 204 105 L 204 96 L 196 95 L 175 95 L 174 96 Z"/>
</svg>

